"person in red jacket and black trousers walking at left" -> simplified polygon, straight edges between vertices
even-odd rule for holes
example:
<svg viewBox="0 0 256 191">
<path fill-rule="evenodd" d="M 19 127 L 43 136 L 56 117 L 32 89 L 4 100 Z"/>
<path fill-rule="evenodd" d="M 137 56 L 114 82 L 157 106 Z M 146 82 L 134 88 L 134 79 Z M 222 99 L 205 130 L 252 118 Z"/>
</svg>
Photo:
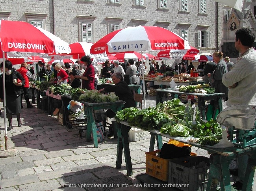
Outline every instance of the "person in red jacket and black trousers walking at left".
<svg viewBox="0 0 256 191">
<path fill-rule="evenodd" d="M 26 62 L 22 62 L 20 64 L 20 69 L 17 69 L 17 72 L 19 72 L 22 75 L 22 77 L 25 79 L 25 85 L 22 86 L 23 95 L 24 95 L 24 98 L 27 103 L 27 108 L 31 108 L 33 106 L 30 105 L 30 101 L 29 101 L 29 97 L 28 97 L 29 80 L 28 80 L 28 76 L 27 76 L 27 71 L 28 71 L 27 67 L 28 67 L 28 64 Z M 22 95 L 20 95 L 20 106 L 21 106 L 21 108 L 23 108 Z"/>
</svg>

